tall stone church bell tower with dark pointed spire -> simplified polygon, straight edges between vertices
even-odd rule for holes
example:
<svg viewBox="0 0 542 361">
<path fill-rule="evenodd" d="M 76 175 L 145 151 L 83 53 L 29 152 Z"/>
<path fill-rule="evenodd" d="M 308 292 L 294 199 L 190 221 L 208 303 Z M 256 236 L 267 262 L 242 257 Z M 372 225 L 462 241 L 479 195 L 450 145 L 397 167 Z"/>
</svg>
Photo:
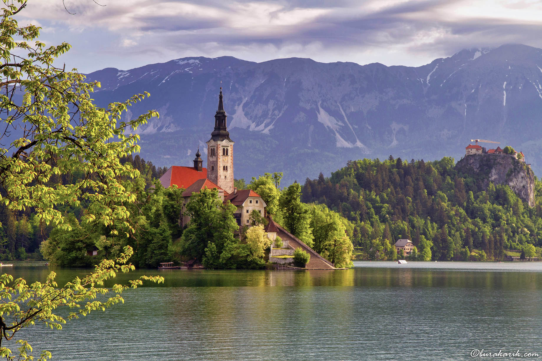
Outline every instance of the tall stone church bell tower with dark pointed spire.
<svg viewBox="0 0 542 361">
<path fill-rule="evenodd" d="M 226 125 L 226 112 L 222 102 L 222 87 L 218 95 L 215 130 L 207 141 L 207 179 L 228 193 L 234 192 L 234 141 Z"/>
</svg>

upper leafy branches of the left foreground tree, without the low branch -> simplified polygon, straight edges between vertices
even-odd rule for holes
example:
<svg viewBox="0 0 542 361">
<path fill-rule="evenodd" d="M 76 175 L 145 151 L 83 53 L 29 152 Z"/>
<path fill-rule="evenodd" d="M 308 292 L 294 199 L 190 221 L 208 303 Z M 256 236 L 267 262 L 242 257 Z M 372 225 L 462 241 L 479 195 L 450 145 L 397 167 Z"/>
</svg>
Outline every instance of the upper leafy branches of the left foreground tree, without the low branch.
<svg viewBox="0 0 542 361">
<path fill-rule="evenodd" d="M 147 93 L 107 108 L 96 107 L 91 94 L 98 82 L 87 84 L 75 69 L 54 66 L 55 58 L 70 45 L 46 48 L 36 40 L 40 28 L 18 26 L 12 16 L 25 5 L 23 0 L 6 4 L 0 21 L 0 114 L 5 125 L 0 140 L 9 142 L 0 149 L 4 189 L 0 202 L 17 211 L 31 207 L 46 224 L 63 229 L 70 225 L 57 206 L 85 204 L 83 222 L 98 220 L 106 226 L 130 228 L 124 204 L 133 198 L 120 178 L 134 178 L 139 172 L 121 165 L 119 158 L 139 150 L 139 136 L 131 132 L 158 113 L 149 111 L 121 121 L 127 107 Z M 22 136 L 8 141 L 11 130 Z M 76 181 L 49 185 L 53 175 L 70 175 Z"/>
</svg>

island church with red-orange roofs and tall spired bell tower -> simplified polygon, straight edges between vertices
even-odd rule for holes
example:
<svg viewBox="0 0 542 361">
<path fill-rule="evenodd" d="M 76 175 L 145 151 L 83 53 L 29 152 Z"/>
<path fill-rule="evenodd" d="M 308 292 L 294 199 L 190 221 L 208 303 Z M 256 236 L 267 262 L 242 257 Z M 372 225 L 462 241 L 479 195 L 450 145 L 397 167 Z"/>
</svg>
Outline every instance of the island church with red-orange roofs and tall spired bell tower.
<svg viewBox="0 0 542 361">
<path fill-rule="evenodd" d="M 234 186 L 234 141 L 230 139 L 227 127 L 227 115 L 224 110 L 222 88 L 218 95 L 218 110 L 215 114 L 215 129 L 211 139 L 207 141 L 207 168 L 203 167 L 203 160 L 199 148 L 192 167 L 171 166 L 160 177 L 160 182 L 167 188 L 176 185 L 184 188 L 183 205 L 188 203 L 192 192 L 199 192 L 204 188 L 218 189 L 218 196 L 223 202 L 230 201 L 237 207 L 234 217 L 239 226 L 249 226 L 249 216 L 252 211 L 266 216 L 266 203 L 260 195 L 250 189 L 237 190 Z M 184 213 L 184 207 L 183 207 Z M 182 215 L 181 226 L 190 222 L 190 217 Z"/>
</svg>

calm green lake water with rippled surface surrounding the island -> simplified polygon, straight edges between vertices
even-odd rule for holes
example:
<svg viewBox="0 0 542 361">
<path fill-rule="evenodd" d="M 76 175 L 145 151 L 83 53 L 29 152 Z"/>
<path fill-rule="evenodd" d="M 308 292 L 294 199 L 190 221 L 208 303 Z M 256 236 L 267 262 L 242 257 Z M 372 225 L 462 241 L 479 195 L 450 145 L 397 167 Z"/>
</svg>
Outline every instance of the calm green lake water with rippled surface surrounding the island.
<svg viewBox="0 0 542 361">
<path fill-rule="evenodd" d="M 542 262 L 354 265 L 136 271 L 165 284 L 126 292 L 124 304 L 62 331 L 20 335 L 53 360 L 467 360 L 474 349 L 542 360 Z M 54 269 L 10 268 L 27 280 Z M 59 284 L 88 272 L 55 271 Z"/>
</svg>

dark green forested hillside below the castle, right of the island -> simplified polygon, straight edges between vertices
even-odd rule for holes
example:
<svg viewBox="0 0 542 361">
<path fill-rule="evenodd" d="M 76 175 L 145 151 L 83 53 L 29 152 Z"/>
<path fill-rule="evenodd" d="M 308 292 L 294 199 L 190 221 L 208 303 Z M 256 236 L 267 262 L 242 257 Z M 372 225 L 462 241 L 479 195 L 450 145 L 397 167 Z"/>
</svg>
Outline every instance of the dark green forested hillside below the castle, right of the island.
<svg viewBox="0 0 542 361">
<path fill-rule="evenodd" d="M 386 258 L 401 238 L 411 239 L 425 260 L 540 253 L 542 182 L 535 179 L 532 208 L 508 186 L 491 184 L 483 191 L 477 184 L 457 172 L 452 158 L 406 162 L 390 155 L 385 161 L 350 161 L 330 178 L 307 178 L 302 200 L 325 204 L 352 221 L 354 245 L 369 258 Z M 483 253 L 471 255 L 473 250 Z"/>
</svg>

